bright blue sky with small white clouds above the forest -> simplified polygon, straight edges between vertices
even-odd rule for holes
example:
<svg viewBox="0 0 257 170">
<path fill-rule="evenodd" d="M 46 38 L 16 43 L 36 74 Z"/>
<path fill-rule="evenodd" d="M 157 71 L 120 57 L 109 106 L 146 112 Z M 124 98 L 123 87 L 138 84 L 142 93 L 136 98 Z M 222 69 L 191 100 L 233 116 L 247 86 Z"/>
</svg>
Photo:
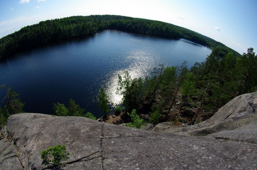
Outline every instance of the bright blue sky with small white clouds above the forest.
<svg viewBox="0 0 257 170">
<path fill-rule="evenodd" d="M 257 50 L 256 7 L 257 0 L 0 0 L 0 38 L 43 20 L 110 14 L 182 26 L 242 54 Z"/>
</svg>

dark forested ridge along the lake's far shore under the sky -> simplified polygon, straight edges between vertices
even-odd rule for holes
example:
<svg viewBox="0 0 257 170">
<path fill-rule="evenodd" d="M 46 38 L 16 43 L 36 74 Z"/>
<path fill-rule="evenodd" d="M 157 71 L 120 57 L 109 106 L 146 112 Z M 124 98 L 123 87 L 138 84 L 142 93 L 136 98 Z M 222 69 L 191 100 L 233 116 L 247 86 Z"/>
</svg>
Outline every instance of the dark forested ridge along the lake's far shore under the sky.
<svg viewBox="0 0 257 170">
<path fill-rule="evenodd" d="M 220 42 L 173 24 L 119 15 L 90 15 L 46 20 L 38 24 L 25 26 L 19 31 L 0 39 L 0 58 L 48 42 L 93 35 L 105 29 L 166 38 L 185 38 L 212 49 L 219 48 L 223 51 L 223 53 L 220 53 L 220 57 L 225 56 L 228 52 L 240 56 L 238 52 Z"/>
</svg>

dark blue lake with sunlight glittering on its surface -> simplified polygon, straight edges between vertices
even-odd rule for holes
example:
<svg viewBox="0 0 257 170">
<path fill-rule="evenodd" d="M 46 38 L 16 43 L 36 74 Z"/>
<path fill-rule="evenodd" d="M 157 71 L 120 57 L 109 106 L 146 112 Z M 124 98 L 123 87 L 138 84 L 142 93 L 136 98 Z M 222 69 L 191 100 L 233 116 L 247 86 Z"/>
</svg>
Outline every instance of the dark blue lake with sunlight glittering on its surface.
<svg viewBox="0 0 257 170">
<path fill-rule="evenodd" d="M 69 98 L 95 116 L 98 90 L 104 86 L 117 105 L 117 75 L 128 70 L 131 77 L 150 75 L 159 64 L 181 65 L 206 59 L 211 50 L 180 39 L 163 39 L 120 31 L 104 31 L 92 37 L 49 44 L 15 54 L 0 63 L 0 84 L 13 86 L 25 102 L 26 112 L 52 114 L 53 103 Z M 0 92 L 0 98 L 4 96 Z M 1 103 L 3 106 L 3 103 Z"/>
</svg>

